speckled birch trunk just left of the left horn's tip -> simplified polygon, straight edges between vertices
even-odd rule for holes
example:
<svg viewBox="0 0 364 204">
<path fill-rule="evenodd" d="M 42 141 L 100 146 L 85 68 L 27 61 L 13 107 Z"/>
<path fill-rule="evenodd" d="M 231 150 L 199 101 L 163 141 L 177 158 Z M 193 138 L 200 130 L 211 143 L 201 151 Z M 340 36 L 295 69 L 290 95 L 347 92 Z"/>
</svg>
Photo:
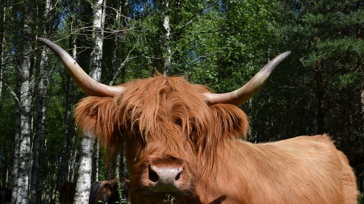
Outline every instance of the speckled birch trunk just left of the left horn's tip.
<svg viewBox="0 0 364 204">
<path fill-rule="evenodd" d="M 32 9 L 27 4 L 27 12 L 24 13 L 23 38 L 22 38 L 22 64 L 19 70 L 20 80 L 20 151 L 18 169 L 18 188 L 16 204 L 28 203 L 29 185 L 29 157 L 32 117 L 32 94 L 31 94 L 31 60 L 32 60 Z"/>
</svg>

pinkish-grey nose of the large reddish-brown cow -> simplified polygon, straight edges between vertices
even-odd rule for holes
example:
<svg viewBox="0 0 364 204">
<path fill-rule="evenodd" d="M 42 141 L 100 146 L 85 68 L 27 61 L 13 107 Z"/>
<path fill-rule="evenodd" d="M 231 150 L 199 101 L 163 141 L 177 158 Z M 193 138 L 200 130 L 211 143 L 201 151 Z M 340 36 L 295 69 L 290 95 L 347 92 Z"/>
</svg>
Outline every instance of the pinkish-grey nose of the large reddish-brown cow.
<svg viewBox="0 0 364 204">
<path fill-rule="evenodd" d="M 149 180 L 154 184 L 154 192 L 175 192 L 183 180 L 183 167 L 151 165 Z"/>
</svg>

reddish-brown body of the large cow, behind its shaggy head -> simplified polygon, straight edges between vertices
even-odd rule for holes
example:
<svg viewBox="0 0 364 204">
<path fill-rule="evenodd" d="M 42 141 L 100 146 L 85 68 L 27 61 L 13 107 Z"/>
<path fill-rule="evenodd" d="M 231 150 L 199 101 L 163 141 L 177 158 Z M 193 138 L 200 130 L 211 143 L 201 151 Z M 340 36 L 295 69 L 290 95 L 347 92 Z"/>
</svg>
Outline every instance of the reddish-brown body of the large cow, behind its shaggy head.
<svg viewBox="0 0 364 204">
<path fill-rule="evenodd" d="M 224 155 L 219 164 L 223 169 L 216 172 L 220 178 L 213 183 L 216 190 L 210 191 L 216 196 L 221 191 L 226 196 L 222 203 L 356 203 L 354 173 L 326 135 L 266 144 L 237 142 Z M 213 200 L 207 197 L 202 196 L 202 203 Z"/>
</svg>

